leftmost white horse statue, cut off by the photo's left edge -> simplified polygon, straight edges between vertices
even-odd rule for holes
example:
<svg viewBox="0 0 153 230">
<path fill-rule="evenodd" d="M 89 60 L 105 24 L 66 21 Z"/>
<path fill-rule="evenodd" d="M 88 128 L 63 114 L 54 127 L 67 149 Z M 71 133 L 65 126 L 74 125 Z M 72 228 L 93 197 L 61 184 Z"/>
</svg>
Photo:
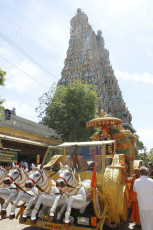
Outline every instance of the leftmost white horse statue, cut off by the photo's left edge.
<svg viewBox="0 0 153 230">
<path fill-rule="evenodd" d="M 4 179 L 7 175 L 7 171 L 0 166 L 0 197 L 5 200 L 5 203 L 2 205 L 1 216 L 2 218 L 6 216 L 6 209 L 10 201 L 14 201 L 17 197 L 17 188 L 12 183 L 11 185 L 6 186 L 4 184 Z"/>
</svg>

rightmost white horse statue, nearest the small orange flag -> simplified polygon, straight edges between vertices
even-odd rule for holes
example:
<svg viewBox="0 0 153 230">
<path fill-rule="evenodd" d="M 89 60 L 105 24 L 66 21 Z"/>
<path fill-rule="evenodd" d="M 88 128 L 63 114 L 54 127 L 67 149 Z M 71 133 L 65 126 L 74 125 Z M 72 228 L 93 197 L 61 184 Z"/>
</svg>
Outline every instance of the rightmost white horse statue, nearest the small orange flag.
<svg viewBox="0 0 153 230">
<path fill-rule="evenodd" d="M 58 202 L 65 203 L 67 210 L 65 212 L 65 227 L 70 226 L 70 214 L 71 209 L 79 209 L 80 213 L 84 213 L 86 207 L 92 200 L 91 196 L 91 180 L 80 181 L 75 177 L 75 170 L 73 168 L 73 162 L 70 166 L 63 166 L 60 162 L 59 177 L 56 181 L 56 186 L 62 196 L 57 196 L 55 202 L 51 208 L 52 216 L 56 209 Z M 61 201 L 62 199 L 62 201 Z M 99 209 L 99 203 L 97 199 L 97 205 Z M 99 209 L 100 212 L 100 209 Z"/>
</svg>

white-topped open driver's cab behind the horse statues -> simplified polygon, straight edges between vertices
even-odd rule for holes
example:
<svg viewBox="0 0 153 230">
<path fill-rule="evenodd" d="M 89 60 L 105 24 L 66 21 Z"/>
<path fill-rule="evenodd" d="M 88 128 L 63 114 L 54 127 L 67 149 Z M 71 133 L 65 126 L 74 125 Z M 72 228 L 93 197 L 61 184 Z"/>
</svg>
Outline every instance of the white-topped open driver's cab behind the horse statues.
<svg viewBox="0 0 153 230">
<path fill-rule="evenodd" d="M 115 140 L 86 141 L 86 142 L 64 142 L 60 145 L 50 146 L 48 156 L 44 161 L 44 168 L 59 169 L 59 162 L 69 164 L 71 161 L 79 170 L 93 170 L 94 164 L 97 171 L 105 168 L 105 151 L 107 145 L 112 145 Z M 110 160 L 107 159 L 107 161 Z M 100 165 L 98 167 L 98 165 Z"/>
</svg>

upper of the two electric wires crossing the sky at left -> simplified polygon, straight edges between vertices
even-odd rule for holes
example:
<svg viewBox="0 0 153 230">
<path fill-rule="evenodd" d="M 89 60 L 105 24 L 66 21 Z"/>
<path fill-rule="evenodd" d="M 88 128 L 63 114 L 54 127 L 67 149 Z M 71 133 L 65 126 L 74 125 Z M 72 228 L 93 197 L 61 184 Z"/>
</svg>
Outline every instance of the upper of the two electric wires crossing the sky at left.
<svg viewBox="0 0 153 230">
<path fill-rule="evenodd" d="M 52 78 L 58 79 L 56 76 L 54 76 L 49 70 L 47 70 L 43 65 L 39 64 L 36 59 L 32 58 L 29 54 L 27 54 L 24 50 L 22 50 L 20 47 L 18 47 L 14 42 L 12 42 L 9 38 L 7 38 L 5 35 L 3 35 L 0 32 L 0 37 L 2 37 L 5 41 L 7 41 L 10 45 L 12 45 L 15 49 L 17 49 L 21 54 L 23 54 L 26 58 L 28 58 L 31 62 L 36 64 L 39 68 L 44 70 L 48 75 L 50 75 Z"/>
</svg>

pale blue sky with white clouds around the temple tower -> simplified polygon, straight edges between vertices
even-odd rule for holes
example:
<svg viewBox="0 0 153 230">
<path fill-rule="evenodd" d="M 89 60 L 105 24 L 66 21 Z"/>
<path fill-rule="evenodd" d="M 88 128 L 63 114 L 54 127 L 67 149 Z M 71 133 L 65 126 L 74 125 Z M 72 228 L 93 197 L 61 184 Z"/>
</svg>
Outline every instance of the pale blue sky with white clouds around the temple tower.
<svg viewBox="0 0 153 230">
<path fill-rule="evenodd" d="M 0 0 L 0 67 L 7 72 L 0 96 L 6 99 L 5 107 L 39 121 L 38 98 L 61 77 L 70 20 L 77 8 L 88 15 L 94 31 L 102 30 L 133 127 L 149 151 L 153 148 L 152 0 Z"/>
</svg>

